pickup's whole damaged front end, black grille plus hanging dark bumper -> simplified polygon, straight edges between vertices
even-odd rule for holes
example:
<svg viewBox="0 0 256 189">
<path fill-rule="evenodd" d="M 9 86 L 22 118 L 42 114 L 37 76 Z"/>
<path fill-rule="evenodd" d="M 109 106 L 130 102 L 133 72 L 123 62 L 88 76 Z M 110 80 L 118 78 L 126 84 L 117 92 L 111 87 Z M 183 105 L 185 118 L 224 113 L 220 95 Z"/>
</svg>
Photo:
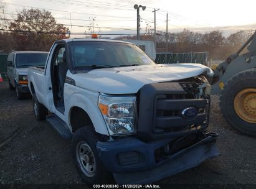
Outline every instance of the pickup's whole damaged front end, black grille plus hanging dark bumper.
<svg viewBox="0 0 256 189">
<path fill-rule="evenodd" d="M 206 130 L 210 92 L 203 75 L 143 86 L 136 135 L 97 143 L 116 182 L 154 182 L 218 156 L 217 134 Z"/>
</svg>

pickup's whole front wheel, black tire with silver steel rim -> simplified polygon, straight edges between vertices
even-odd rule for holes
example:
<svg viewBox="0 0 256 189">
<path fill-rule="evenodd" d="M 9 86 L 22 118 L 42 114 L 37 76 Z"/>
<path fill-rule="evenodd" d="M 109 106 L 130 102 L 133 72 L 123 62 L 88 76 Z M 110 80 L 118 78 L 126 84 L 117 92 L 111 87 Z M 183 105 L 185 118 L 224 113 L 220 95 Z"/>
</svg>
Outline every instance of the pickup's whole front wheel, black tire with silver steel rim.
<svg viewBox="0 0 256 189">
<path fill-rule="evenodd" d="M 82 179 L 88 184 L 111 182 L 111 174 L 102 165 L 97 151 L 100 137 L 92 126 L 78 129 L 72 137 L 71 152 L 73 162 Z"/>
</svg>

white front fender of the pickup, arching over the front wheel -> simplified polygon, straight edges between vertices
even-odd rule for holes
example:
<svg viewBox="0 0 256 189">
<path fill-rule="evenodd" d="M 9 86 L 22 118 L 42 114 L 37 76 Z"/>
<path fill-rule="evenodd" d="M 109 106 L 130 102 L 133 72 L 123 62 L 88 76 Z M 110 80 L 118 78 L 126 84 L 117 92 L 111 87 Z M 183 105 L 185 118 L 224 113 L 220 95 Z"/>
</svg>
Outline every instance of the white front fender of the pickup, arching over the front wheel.
<svg viewBox="0 0 256 189">
<path fill-rule="evenodd" d="M 70 112 L 73 107 L 78 107 L 88 114 L 96 132 L 109 135 L 102 113 L 100 112 L 100 109 L 98 109 L 98 96 L 99 93 L 95 91 L 85 90 L 65 83 L 65 121 L 67 126 L 69 126 L 70 131 L 72 131 L 70 124 Z"/>
</svg>

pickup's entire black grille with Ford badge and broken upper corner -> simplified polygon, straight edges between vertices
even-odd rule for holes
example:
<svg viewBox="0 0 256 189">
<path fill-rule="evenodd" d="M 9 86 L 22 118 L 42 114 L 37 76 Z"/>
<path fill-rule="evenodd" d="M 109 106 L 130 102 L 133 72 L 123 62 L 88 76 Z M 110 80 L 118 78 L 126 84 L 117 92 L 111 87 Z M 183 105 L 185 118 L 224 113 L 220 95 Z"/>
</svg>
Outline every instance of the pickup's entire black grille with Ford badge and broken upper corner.
<svg viewBox="0 0 256 189">
<path fill-rule="evenodd" d="M 145 140 L 180 137 L 206 129 L 211 86 L 201 76 L 152 83 L 138 94 L 138 136 Z"/>
</svg>

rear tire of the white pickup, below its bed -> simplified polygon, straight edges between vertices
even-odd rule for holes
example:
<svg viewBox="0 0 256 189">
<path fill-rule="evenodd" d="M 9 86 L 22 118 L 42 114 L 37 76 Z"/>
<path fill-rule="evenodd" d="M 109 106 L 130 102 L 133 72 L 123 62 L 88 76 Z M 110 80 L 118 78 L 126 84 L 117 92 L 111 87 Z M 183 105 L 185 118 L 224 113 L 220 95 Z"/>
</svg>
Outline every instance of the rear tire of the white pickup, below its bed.
<svg viewBox="0 0 256 189">
<path fill-rule="evenodd" d="M 44 107 L 43 104 L 39 103 L 37 100 L 36 94 L 32 95 L 33 111 L 36 116 L 37 121 L 45 120 L 48 110 Z"/>
</svg>

